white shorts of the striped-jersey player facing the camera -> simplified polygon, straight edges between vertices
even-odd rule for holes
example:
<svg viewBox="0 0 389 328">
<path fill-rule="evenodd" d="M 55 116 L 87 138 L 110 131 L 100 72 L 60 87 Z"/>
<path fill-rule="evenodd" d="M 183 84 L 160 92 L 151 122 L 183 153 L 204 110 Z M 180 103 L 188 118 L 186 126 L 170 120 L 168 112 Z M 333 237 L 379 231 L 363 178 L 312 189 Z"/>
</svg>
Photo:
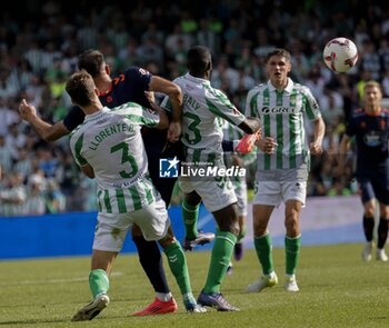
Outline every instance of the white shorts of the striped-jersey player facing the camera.
<svg viewBox="0 0 389 328">
<path fill-rule="evenodd" d="M 307 199 L 307 166 L 291 170 L 257 171 L 252 203 L 280 206 L 298 200 L 305 206 Z"/>
</svg>

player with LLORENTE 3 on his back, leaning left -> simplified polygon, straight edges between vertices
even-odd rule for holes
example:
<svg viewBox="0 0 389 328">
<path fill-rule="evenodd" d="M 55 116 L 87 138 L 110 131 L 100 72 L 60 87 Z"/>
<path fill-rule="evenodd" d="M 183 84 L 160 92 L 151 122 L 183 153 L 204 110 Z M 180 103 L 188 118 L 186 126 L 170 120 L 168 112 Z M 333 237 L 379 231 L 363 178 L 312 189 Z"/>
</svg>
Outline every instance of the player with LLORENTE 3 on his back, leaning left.
<svg viewBox="0 0 389 328">
<path fill-rule="evenodd" d="M 69 78 L 66 90 L 86 113 L 83 123 L 71 133 L 70 149 L 81 170 L 98 180 L 99 203 L 89 275 L 93 300 L 72 320 L 91 320 L 109 304 L 109 275 L 133 223 L 146 240 L 159 240 L 187 310 L 203 312 L 193 298 L 186 257 L 171 230 L 164 201 L 149 178 L 140 132 L 142 126 L 168 128 L 166 112 L 157 106 L 152 111 L 134 102 L 113 109 L 103 107 L 92 77 L 84 70 Z"/>
</svg>

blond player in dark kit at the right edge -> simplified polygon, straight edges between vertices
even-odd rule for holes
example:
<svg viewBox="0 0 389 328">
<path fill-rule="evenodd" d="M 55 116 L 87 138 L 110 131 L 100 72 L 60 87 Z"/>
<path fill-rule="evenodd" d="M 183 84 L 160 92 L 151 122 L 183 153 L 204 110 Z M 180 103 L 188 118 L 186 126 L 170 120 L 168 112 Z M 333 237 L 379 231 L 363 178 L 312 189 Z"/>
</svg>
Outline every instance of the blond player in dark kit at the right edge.
<svg viewBox="0 0 389 328">
<path fill-rule="evenodd" d="M 385 243 L 389 222 L 389 110 L 381 107 L 380 85 L 369 81 L 365 86 L 365 108 L 350 117 L 346 135 L 339 147 L 339 168 L 341 175 L 345 157 L 351 138 L 357 143 L 357 179 L 363 203 L 363 230 L 367 243 L 362 259 L 371 260 L 372 235 L 375 229 L 376 198 L 380 208 L 378 225 L 377 259 L 388 261 Z"/>
</svg>

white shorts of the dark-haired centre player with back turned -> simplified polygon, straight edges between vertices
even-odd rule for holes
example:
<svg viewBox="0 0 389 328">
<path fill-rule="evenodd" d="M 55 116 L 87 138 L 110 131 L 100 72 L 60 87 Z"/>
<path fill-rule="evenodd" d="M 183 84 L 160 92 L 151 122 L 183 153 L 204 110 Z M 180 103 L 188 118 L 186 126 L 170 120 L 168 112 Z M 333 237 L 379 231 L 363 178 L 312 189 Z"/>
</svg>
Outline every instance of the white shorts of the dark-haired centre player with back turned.
<svg viewBox="0 0 389 328">
<path fill-rule="evenodd" d="M 196 191 L 210 212 L 218 211 L 237 202 L 232 183 L 228 178 L 179 178 L 180 188 L 184 193 Z"/>
</svg>

